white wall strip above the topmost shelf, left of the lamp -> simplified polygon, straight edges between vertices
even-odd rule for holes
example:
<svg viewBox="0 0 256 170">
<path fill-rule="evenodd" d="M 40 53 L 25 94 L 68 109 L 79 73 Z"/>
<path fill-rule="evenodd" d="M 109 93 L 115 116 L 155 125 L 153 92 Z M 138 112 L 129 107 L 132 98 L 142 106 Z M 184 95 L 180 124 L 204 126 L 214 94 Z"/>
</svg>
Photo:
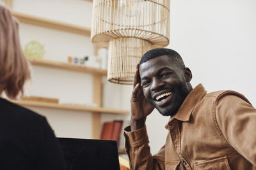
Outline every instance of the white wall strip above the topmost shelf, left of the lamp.
<svg viewBox="0 0 256 170">
<path fill-rule="evenodd" d="M 84 27 L 91 27 L 92 24 L 90 1 L 13 0 L 13 10 Z"/>
</svg>

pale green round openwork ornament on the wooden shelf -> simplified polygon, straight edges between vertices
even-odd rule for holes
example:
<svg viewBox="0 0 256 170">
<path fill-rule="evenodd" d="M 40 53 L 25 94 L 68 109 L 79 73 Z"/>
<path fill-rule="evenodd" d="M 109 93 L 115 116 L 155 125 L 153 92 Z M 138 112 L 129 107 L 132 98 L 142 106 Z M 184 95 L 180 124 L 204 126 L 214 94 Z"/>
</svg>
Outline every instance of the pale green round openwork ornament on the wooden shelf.
<svg viewBox="0 0 256 170">
<path fill-rule="evenodd" d="M 35 40 L 29 41 L 25 46 L 24 52 L 28 57 L 42 59 L 45 54 L 44 45 Z"/>
</svg>

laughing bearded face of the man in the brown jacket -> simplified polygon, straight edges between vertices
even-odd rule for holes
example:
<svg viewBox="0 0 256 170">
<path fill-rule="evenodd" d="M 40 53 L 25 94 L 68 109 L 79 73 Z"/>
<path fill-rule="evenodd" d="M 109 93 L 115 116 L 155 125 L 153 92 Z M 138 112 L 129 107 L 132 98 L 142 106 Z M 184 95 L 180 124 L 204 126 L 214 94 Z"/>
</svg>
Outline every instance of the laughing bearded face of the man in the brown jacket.
<svg viewBox="0 0 256 170">
<path fill-rule="evenodd" d="M 187 82 L 190 78 L 166 55 L 141 64 L 140 77 L 147 101 L 164 116 L 175 115 L 190 92 Z"/>
</svg>

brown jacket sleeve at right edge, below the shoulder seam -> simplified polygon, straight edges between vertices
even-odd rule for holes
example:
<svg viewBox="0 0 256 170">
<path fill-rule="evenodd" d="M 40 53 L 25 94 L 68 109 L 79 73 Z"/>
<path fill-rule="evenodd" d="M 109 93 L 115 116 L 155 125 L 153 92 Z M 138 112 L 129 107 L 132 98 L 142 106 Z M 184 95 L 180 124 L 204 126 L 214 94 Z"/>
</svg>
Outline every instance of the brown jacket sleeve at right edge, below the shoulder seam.
<svg viewBox="0 0 256 170">
<path fill-rule="evenodd" d="M 256 166 L 256 110 L 241 94 L 227 92 L 216 101 L 216 125 L 221 136 Z"/>
</svg>

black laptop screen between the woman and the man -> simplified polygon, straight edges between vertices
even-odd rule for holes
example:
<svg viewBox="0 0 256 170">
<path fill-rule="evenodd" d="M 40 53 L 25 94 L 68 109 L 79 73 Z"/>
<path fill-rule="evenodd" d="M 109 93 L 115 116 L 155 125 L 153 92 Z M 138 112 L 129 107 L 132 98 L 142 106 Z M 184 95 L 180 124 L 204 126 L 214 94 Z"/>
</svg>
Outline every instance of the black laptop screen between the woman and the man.
<svg viewBox="0 0 256 170">
<path fill-rule="evenodd" d="M 116 141 L 58 138 L 67 170 L 120 170 Z"/>
</svg>

